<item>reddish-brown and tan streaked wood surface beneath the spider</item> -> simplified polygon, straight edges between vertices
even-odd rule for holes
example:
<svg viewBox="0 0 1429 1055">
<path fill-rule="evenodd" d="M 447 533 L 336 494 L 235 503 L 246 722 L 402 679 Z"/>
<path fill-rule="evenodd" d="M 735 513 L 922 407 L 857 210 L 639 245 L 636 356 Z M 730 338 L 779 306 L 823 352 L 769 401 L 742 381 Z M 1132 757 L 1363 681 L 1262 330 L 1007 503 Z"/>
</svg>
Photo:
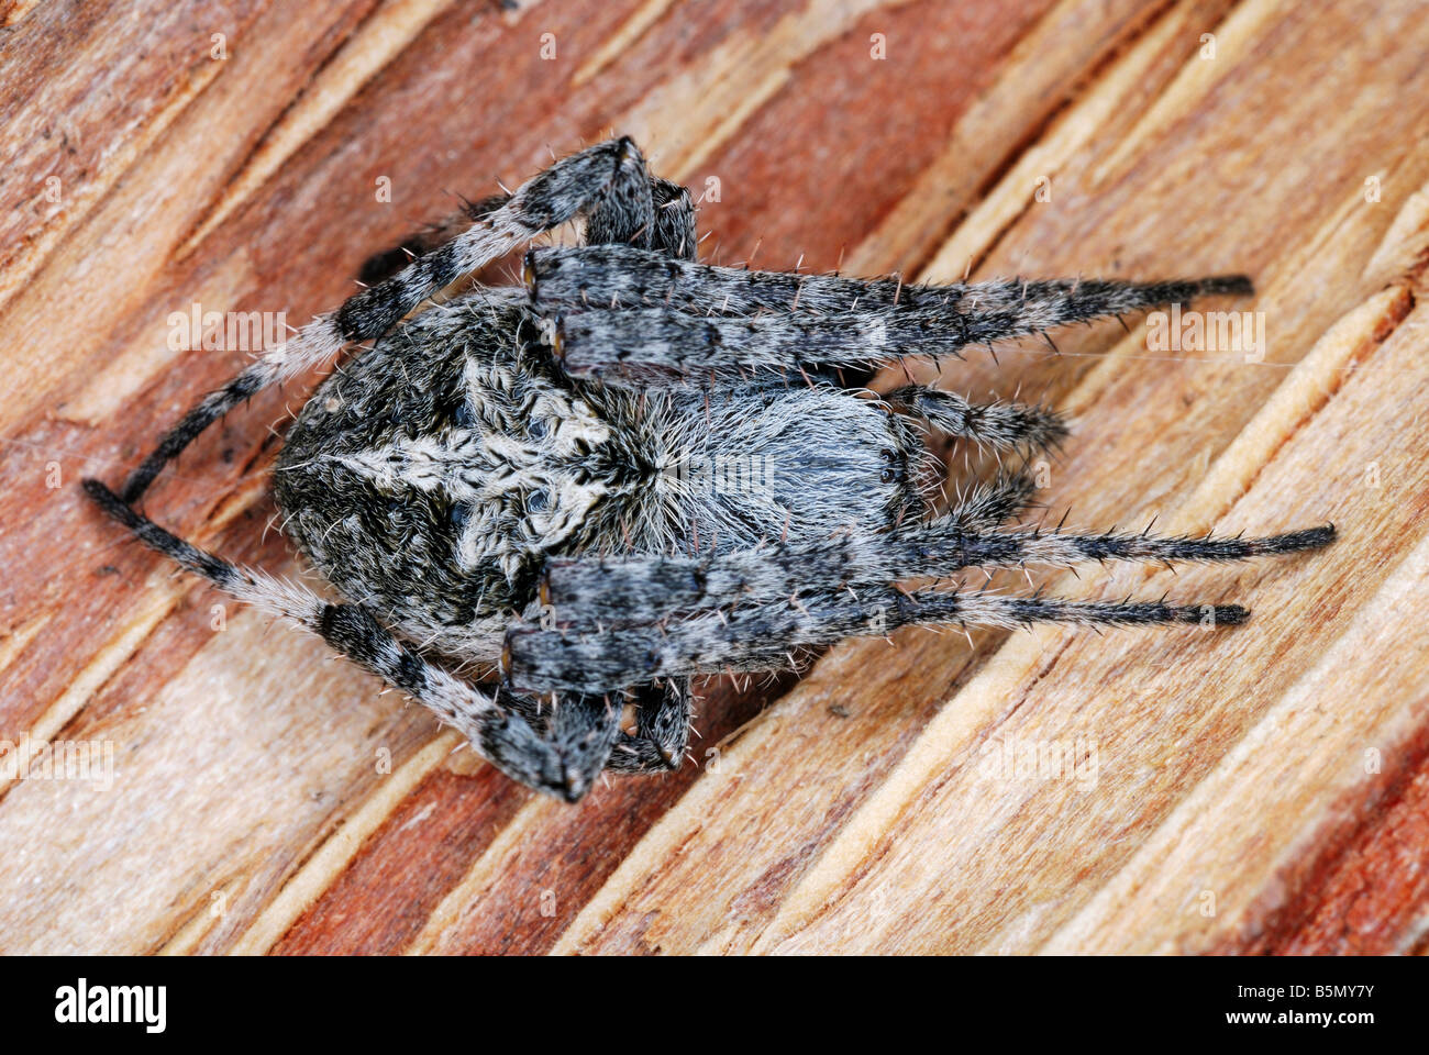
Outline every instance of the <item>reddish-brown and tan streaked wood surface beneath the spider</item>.
<svg viewBox="0 0 1429 1055">
<path fill-rule="evenodd" d="M 1426 6 L 506 7 L 0 4 L 0 739 L 114 751 L 107 783 L 0 786 L 0 951 L 1423 951 Z M 1219 307 L 1265 313 L 1263 362 L 1129 320 L 942 383 L 1077 416 L 1046 496 L 1077 525 L 1340 540 L 1037 576 L 1243 600 L 1235 630 L 915 629 L 714 680 L 699 766 L 569 808 L 81 502 L 246 360 L 171 349 L 171 312 L 306 322 L 452 192 L 610 130 L 719 180 L 706 259 L 1249 272 Z M 264 473 L 302 397 L 231 415 L 149 512 L 292 569 Z M 1072 773 L 997 765 L 1027 745 Z"/>
</svg>

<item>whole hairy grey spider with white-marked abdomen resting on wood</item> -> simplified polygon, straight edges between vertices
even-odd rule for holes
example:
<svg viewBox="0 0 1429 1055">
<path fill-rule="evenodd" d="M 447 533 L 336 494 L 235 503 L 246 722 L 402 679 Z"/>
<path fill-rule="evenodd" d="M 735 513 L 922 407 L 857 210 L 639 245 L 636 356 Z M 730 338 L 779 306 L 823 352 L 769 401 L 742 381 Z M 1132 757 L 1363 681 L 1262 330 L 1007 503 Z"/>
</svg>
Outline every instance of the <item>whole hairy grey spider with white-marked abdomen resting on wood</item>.
<svg viewBox="0 0 1429 1055">
<path fill-rule="evenodd" d="M 583 243 L 527 249 L 524 284 L 416 310 L 577 217 Z M 679 766 L 696 675 L 767 670 L 910 623 L 1248 615 L 906 580 L 1027 562 L 1240 560 L 1333 539 L 1328 525 L 1260 539 L 1006 528 L 1032 499 L 1025 470 L 937 512 L 942 463 L 926 433 L 1026 455 L 1056 445 L 1066 422 L 1035 405 L 840 383 L 842 369 L 1245 294 L 1242 276 L 907 286 L 702 264 L 690 193 L 652 176 L 629 139 L 467 206 L 453 237 L 419 247 L 199 402 L 117 495 L 84 487 L 141 542 L 320 635 L 502 772 L 570 802 L 602 771 Z M 383 270 L 392 254 L 374 262 Z M 227 410 L 364 342 L 297 413 L 274 466 L 284 530 L 342 600 L 136 512 Z"/>
</svg>

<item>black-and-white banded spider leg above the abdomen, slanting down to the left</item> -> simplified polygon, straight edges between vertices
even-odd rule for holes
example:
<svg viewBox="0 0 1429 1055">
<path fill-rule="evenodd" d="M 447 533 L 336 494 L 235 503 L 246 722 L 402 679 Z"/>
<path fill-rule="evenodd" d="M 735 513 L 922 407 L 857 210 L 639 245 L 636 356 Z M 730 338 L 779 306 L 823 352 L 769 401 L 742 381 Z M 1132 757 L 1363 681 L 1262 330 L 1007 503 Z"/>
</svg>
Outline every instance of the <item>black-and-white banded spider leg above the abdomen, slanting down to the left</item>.
<svg viewBox="0 0 1429 1055">
<path fill-rule="evenodd" d="M 120 497 L 137 502 L 159 472 L 206 427 L 259 390 L 294 377 L 337 355 L 347 343 L 383 336 L 426 297 L 514 246 L 592 209 L 612 229 L 652 223 L 644 159 L 629 139 L 610 140 L 564 157 L 532 177 L 504 204 L 486 213 L 442 247 L 417 257 L 386 282 L 322 314 L 286 343 L 263 353 L 224 387 L 204 397 L 176 425 L 124 483 Z"/>
</svg>

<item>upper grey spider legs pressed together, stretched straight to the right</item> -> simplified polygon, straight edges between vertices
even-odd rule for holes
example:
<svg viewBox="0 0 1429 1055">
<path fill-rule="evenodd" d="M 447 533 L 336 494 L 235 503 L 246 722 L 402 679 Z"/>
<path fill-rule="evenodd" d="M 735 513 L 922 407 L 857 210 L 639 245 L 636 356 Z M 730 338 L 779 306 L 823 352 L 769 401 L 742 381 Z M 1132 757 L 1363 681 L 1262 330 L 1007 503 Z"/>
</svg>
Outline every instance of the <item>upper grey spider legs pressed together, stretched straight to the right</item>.
<svg viewBox="0 0 1429 1055">
<path fill-rule="evenodd" d="M 969 345 L 1250 292 L 1245 276 L 905 286 L 672 262 L 632 246 L 533 250 L 526 279 L 533 306 L 554 323 L 556 353 L 569 373 L 652 385 L 709 372 L 957 356 Z"/>
</svg>

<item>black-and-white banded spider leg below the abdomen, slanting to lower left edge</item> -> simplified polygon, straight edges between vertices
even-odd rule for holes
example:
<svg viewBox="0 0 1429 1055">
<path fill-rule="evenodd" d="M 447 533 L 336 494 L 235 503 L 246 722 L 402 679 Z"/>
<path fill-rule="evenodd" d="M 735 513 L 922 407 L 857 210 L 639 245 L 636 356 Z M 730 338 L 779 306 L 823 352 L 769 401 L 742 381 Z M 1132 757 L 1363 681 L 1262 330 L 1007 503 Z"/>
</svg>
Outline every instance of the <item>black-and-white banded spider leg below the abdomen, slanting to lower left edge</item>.
<svg viewBox="0 0 1429 1055">
<path fill-rule="evenodd" d="M 230 565 L 136 513 L 99 480 L 86 480 L 84 490 L 144 545 L 239 600 L 322 636 L 347 659 L 424 703 L 507 776 L 574 802 L 610 758 L 620 715 L 602 696 L 556 700 L 543 738 L 523 716 L 534 709 L 530 700 L 506 689 L 482 692 L 394 638 L 364 606 L 329 603 L 303 586 Z"/>
</svg>

